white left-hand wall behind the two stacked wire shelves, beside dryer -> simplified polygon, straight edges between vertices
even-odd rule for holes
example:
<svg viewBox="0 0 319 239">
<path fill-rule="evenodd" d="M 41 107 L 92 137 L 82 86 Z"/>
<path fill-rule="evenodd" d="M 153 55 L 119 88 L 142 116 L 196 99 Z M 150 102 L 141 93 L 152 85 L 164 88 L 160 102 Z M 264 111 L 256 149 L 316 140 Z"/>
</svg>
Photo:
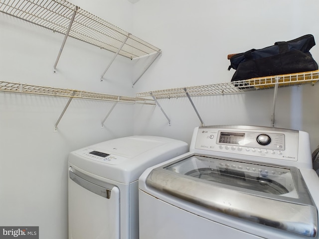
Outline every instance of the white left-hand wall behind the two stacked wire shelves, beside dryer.
<svg viewBox="0 0 319 239">
<path fill-rule="evenodd" d="M 124 29 L 132 28 L 127 0 L 74 0 Z M 88 9 L 90 8 L 90 9 Z M 121 14 L 118 14 L 121 12 Z M 134 96 L 132 61 L 0 13 L 1 81 Z M 125 70 L 124 70 L 125 69 Z M 0 225 L 39 226 L 40 239 L 67 239 L 67 156 L 99 141 L 133 134 L 133 105 L 0 92 Z"/>
</svg>

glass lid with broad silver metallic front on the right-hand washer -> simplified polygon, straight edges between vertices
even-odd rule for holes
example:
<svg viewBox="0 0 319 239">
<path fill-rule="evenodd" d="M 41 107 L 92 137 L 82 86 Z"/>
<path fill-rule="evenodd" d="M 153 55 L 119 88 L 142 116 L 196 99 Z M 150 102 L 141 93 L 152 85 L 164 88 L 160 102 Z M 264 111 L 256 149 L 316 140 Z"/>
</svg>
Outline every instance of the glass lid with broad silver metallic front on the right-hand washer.
<svg viewBox="0 0 319 239">
<path fill-rule="evenodd" d="M 315 237 L 317 208 L 299 170 L 194 155 L 154 169 L 146 184 L 234 217 Z"/>
</svg>

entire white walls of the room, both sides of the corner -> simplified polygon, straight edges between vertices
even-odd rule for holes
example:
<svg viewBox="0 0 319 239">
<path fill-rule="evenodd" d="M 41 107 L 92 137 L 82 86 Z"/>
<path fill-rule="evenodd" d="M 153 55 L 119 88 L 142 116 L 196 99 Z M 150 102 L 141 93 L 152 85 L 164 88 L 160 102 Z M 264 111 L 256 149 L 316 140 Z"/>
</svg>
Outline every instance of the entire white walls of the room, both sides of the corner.
<svg viewBox="0 0 319 239">
<path fill-rule="evenodd" d="M 0 14 L 2 81 L 134 96 L 136 92 L 230 81 L 227 54 L 262 48 L 303 34 L 319 39 L 317 0 L 72 0 L 160 47 L 162 55 L 132 89 L 149 59 L 118 57 Z M 319 47 L 311 51 L 319 61 Z M 276 126 L 311 133 L 319 144 L 319 85 L 279 89 Z M 273 91 L 193 99 L 204 123 L 271 125 Z M 41 239 L 67 238 L 67 155 L 102 140 L 154 134 L 189 142 L 200 124 L 187 98 L 160 100 L 171 126 L 155 106 L 0 93 L 0 225 L 39 226 Z"/>
</svg>

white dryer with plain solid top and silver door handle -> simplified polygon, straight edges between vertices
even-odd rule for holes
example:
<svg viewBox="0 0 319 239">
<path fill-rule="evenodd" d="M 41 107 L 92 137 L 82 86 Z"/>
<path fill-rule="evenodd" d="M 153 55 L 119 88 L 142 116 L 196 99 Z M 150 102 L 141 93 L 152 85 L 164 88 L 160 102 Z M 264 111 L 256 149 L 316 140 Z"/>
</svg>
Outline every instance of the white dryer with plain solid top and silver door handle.
<svg viewBox="0 0 319 239">
<path fill-rule="evenodd" d="M 146 168 L 187 151 L 180 140 L 129 136 L 71 152 L 69 239 L 138 239 L 138 178 Z"/>
</svg>

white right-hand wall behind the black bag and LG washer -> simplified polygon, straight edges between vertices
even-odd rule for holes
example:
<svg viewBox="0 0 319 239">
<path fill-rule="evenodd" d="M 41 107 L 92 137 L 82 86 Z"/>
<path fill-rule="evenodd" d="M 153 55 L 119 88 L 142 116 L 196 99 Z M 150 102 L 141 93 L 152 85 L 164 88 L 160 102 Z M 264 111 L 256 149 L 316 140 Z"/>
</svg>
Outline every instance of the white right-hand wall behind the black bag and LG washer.
<svg viewBox="0 0 319 239">
<path fill-rule="evenodd" d="M 305 34 L 319 42 L 318 0 L 140 0 L 133 7 L 136 34 L 162 49 L 136 92 L 229 82 L 234 70 L 227 71 L 228 54 Z M 319 45 L 311 53 L 319 62 Z M 136 63 L 134 74 L 142 65 Z M 318 84 L 279 89 L 275 111 L 275 126 L 310 132 L 313 149 L 319 144 L 318 93 Z M 205 125 L 272 125 L 273 90 L 192 100 Z M 200 121 L 188 99 L 159 103 L 171 126 L 158 107 L 136 106 L 135 133 L 189 143 Z"/>
</svg>

